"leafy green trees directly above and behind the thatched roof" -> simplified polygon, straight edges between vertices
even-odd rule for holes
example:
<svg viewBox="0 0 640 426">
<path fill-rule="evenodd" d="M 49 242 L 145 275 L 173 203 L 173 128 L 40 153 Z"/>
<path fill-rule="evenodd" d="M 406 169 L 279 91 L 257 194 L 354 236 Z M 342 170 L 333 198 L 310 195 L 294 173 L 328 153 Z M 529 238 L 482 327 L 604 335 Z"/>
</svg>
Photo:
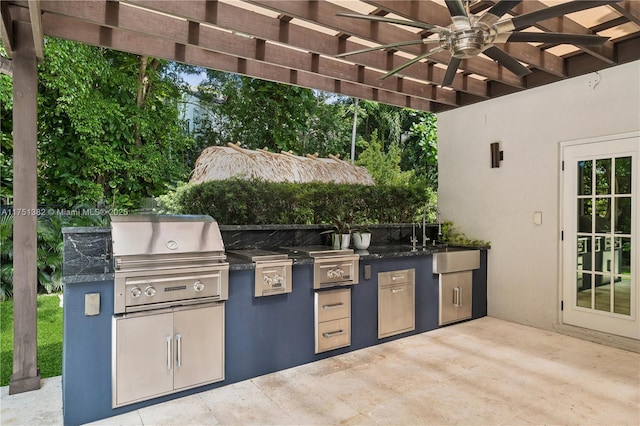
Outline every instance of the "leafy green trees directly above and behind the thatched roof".
<svg viewBox="0 0 640 426">
<path fill-rule="evenodd" d="M 240 142 L 250 149 L 267 147 L 299 155 L 349 152 L 345 107 L 327 102 L 330 95 L 217 71 L 207 75 L 198 94 L 214 118 L 201 123 L 201 145 Z"/>
</svg>

